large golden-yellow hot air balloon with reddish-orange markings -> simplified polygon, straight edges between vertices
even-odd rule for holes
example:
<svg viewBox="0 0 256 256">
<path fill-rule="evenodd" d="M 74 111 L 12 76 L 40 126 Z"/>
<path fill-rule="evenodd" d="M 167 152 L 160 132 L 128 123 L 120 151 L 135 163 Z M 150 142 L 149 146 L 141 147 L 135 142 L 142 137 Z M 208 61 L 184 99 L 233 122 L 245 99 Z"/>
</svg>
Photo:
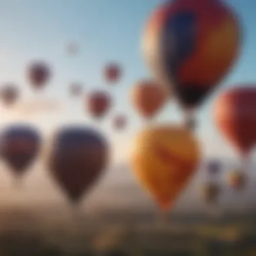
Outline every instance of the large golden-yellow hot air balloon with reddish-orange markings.
<svg viewBox="0 0 256 256">
<path fill-rule="evenodd" d="M 201 158 L 199 145 L 183 127 L 143 130 L 135 138 L 131 166 L 141 185 L 168 210 L 185 189 Z"/>
</svg>

